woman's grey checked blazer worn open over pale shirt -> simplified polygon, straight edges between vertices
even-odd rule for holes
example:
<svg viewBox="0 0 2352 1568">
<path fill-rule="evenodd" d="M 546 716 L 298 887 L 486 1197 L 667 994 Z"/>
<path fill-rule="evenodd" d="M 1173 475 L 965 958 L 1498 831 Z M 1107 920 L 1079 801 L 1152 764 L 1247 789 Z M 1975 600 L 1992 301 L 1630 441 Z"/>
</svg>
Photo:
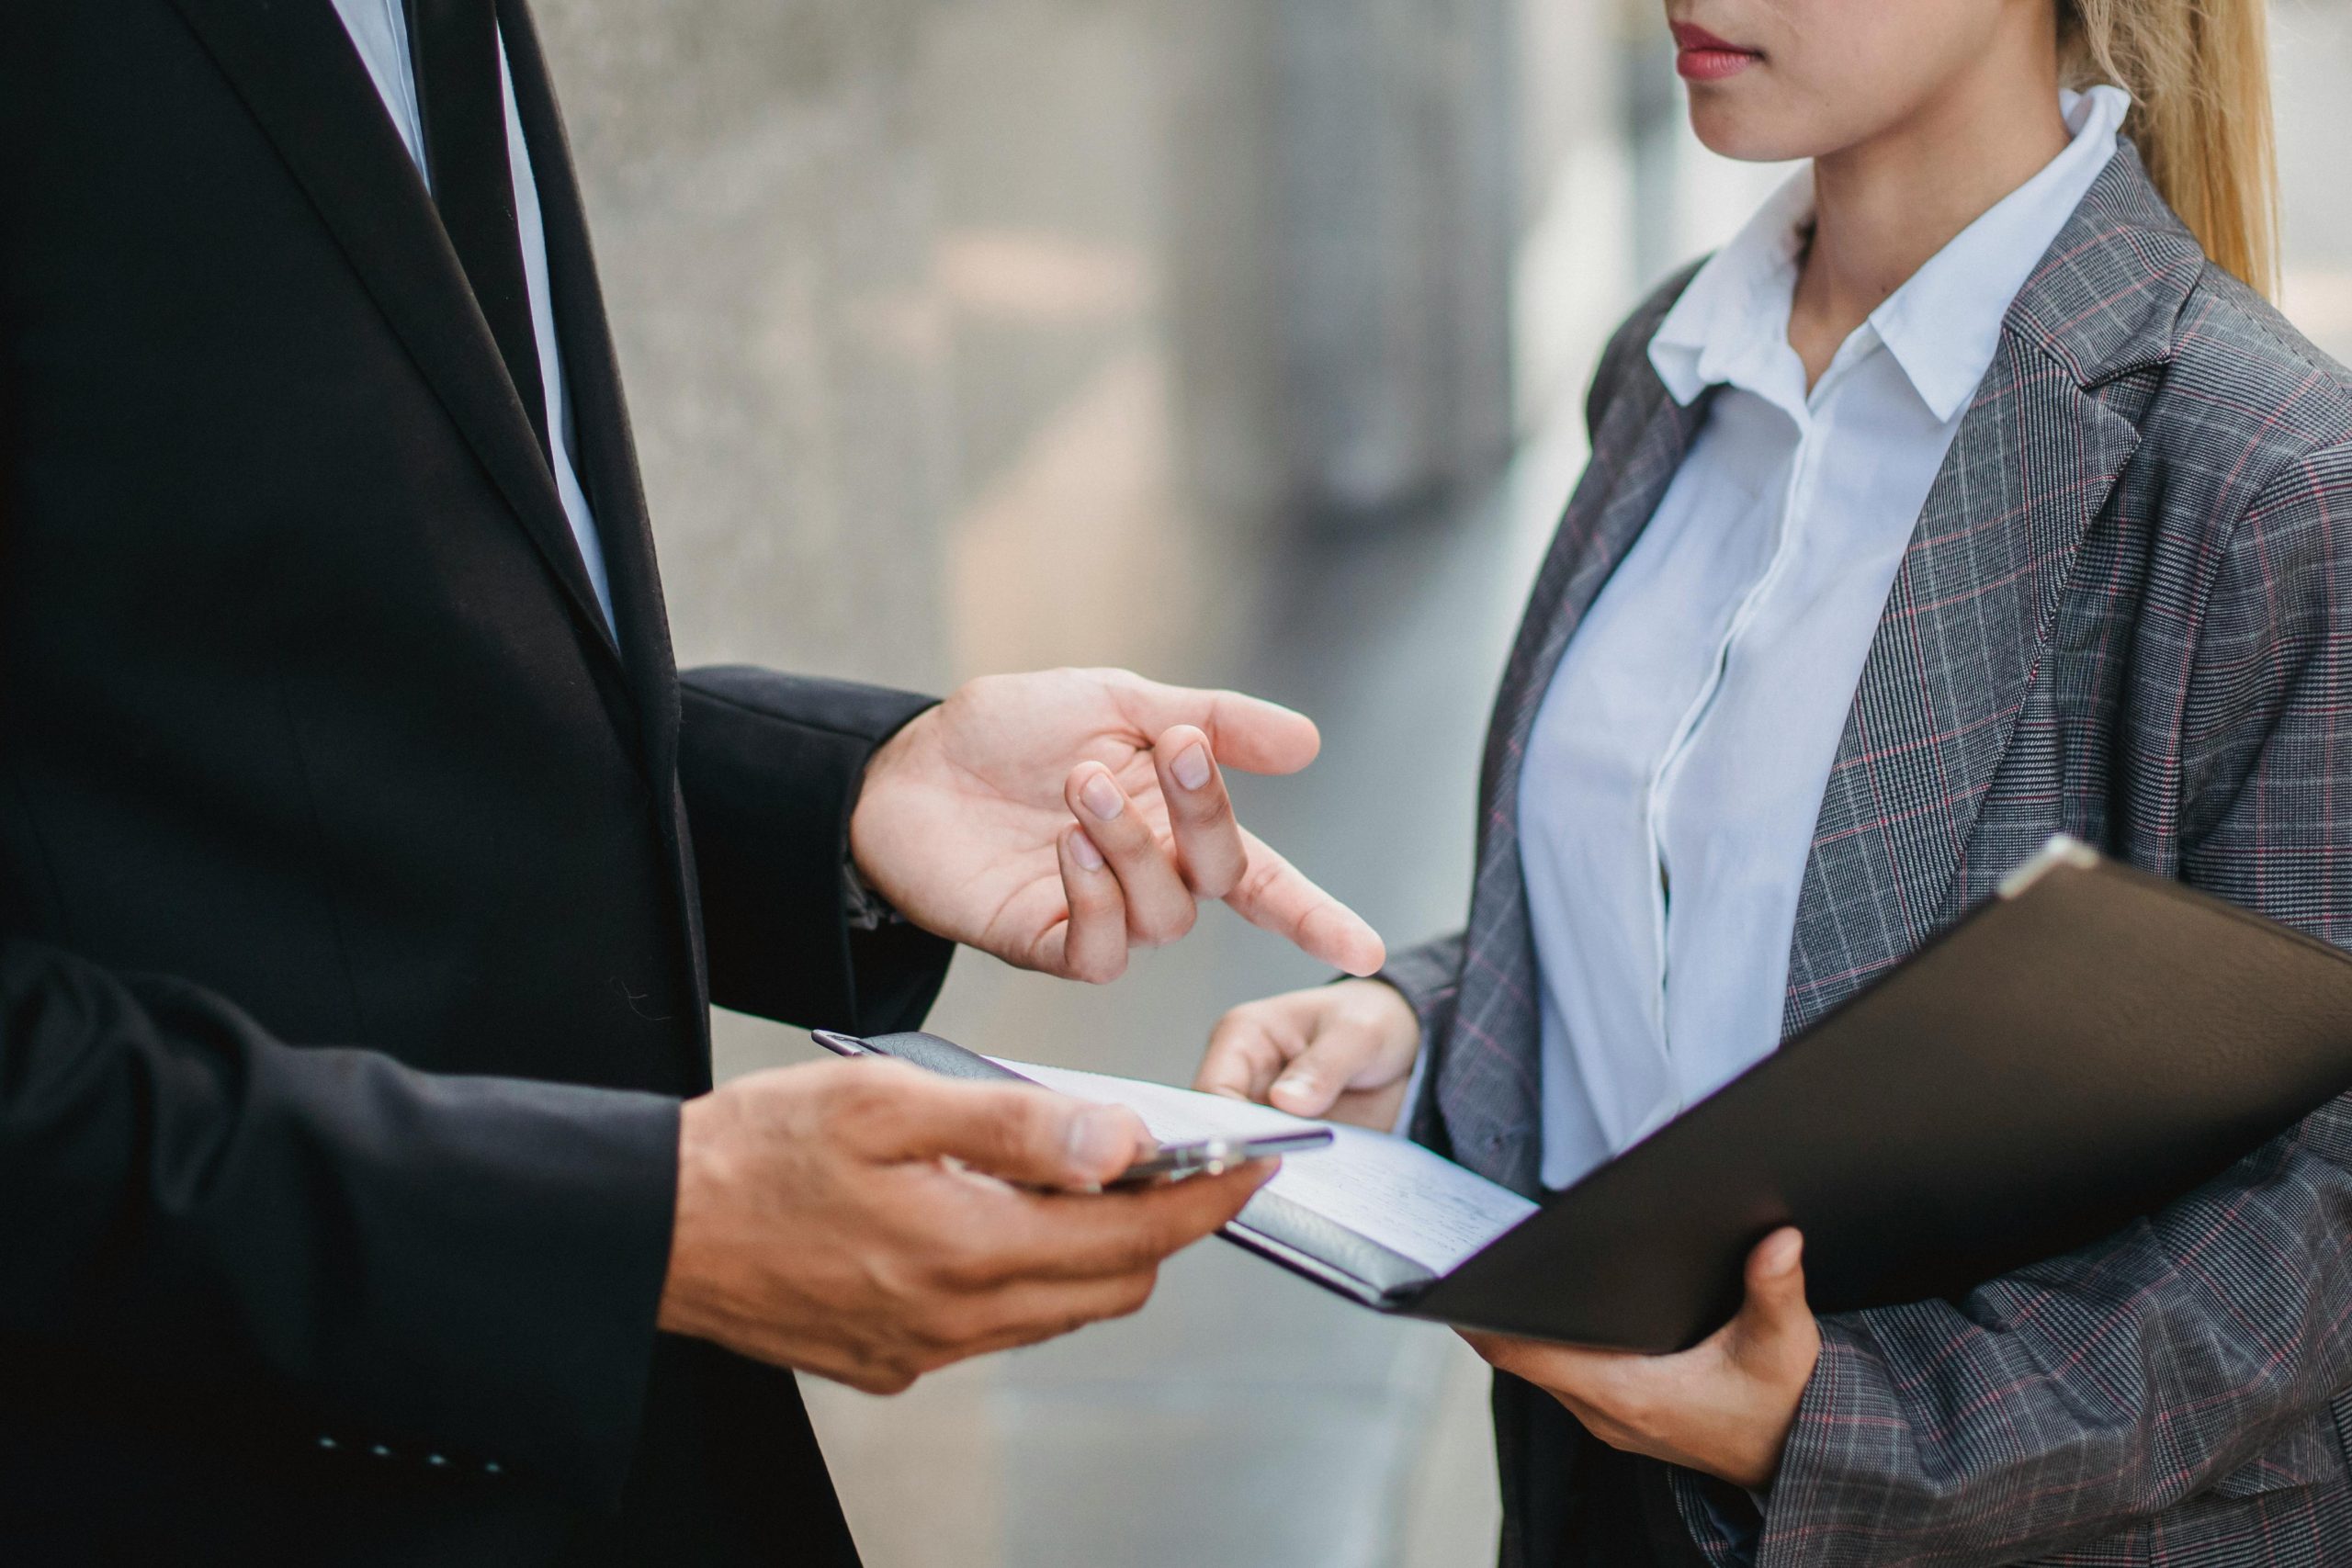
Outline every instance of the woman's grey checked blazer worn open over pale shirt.
<svg viewBox="0 0 2352 1568">
<path fill-rule="evenodd" d="M 1435 1053 L 1416 1135 L 1519 1190 L 1519 759 L 1705 418 L 1646 355 L 1686 280 L 1602 357 L 1595 456 L 1496 703 L 1468 931 L 1388 971 Z M 1785 1027 L 2058 830 L 2352 945 L 2352 378 L 2206 263 L 2129 146 L 2013 301 L 1896 574 L 1820 802 Z M 1675 1535 L 1656 1561 L 2352 1563 L 2352 1098 L 2098 1246 L 1823 1333 L 1755 1528 L 1689 1472 L 1595 1460 L 1498 1380 L 1505 1563 L 1590 1561 L 1595 1474 L 1651 1493 Z"/>
</svg>

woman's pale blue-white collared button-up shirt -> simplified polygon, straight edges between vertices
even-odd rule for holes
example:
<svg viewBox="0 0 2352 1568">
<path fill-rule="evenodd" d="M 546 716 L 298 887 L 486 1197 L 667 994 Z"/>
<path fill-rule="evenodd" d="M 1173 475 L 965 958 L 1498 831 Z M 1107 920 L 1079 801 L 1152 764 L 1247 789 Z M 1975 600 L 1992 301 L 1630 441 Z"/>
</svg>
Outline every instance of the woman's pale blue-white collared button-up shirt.
<svg viewBox="0 0 2352 1568">
<path fill-rule="evenodd" d="M 2126 106 L 2067 94 L 2070 146 L 1872 310 L 1811 393 L 1788 343 L 1811 172 L 1651 339 L 1677 402 L 1719 390 L 1569 642 L 1519 773 L 1545 1187 L 1780 1044 L 1813 823 L 1896 567 L 2009 301 Z"/>
</svg>

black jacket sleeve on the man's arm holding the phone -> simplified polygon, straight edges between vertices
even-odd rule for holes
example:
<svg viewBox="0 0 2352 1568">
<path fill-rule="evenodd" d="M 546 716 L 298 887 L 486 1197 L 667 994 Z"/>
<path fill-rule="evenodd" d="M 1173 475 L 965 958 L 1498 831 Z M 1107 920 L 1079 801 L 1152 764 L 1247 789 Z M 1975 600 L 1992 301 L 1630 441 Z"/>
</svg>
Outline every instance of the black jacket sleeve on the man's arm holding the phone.
<svg viewBox="0 0 2352 1568">
<path fill-rule="evenodd" d="M 0 940 L 12 1338 L 268 1387 L 320 1434 L 600 1505 L 675 1180 L 675 1100 L 296 1048 L 188 983 Z"/>
</svg>

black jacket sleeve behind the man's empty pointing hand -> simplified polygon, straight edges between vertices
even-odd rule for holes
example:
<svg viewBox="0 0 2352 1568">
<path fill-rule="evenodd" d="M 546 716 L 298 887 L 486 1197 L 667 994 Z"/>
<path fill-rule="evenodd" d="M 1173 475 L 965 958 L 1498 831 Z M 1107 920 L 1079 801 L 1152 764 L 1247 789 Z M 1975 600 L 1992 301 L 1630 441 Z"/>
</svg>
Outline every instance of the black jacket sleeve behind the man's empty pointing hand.
<svg viewBox="0 0 2352 1568">
<path fill-rule="evenodd" d="M 934 698 L 724 665 L 689 670 L 682 701 L 710 999 L 856 1034 L 920 1025 L 955 947 L 851 929 L 844 877 L 866 762 Z"/>
</svg>

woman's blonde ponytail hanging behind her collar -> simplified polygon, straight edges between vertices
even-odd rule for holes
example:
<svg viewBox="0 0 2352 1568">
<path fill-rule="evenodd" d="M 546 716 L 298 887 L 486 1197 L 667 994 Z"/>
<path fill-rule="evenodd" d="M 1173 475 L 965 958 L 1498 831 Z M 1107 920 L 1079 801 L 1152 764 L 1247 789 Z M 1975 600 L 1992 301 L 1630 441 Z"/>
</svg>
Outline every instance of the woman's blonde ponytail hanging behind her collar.
<svg viewBox="0 0 2352 1568">
<path fill-rule="evenodd" d="M 2058 0 L 2072 85 L 2131 94 L 2124 134 L 2206 256 L 2279 282 L 2279 165 L 2265 0 Z"/>
</svg>

